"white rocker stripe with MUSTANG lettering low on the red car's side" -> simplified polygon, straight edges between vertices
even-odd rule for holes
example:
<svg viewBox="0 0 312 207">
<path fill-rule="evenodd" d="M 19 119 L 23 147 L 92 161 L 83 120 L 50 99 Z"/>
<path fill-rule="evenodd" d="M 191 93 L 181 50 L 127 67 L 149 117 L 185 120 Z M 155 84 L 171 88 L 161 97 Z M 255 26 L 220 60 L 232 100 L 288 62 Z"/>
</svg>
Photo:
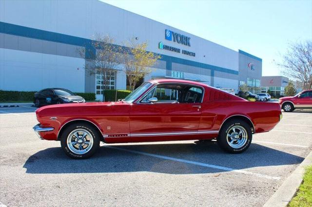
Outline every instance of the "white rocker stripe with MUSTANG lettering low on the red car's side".
<svg viewBox="0 0 312 207">
<path fill-rule="evenodd" d="M 146 137 L 146 136 L 175 136 L 175 135 L 199 135 L 199 134 L 217 134 L 219 130 L 209 131 L 188 131 L 188 132 L 160 132 L 160 133 L 130 133 L 127 136 L 114 136 L 114 134 L 103 135 L 104 138 L 118 138 L 118 137 Z M 113 135 L 112 137 L 110 137 Z M 120 134 L 115 134 L 120 135 Z"/>
</svg>

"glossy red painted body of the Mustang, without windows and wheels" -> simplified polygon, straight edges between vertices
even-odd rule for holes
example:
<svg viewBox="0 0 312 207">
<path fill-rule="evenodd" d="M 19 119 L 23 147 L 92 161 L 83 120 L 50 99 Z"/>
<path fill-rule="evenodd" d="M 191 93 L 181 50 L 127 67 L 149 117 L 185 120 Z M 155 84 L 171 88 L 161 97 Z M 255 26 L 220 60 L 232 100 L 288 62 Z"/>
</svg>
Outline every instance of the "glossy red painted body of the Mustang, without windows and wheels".
<svg viewBox="0 0 312 207">
<path fill-rule="evenodd" d="M 254 133 L 270 131 L 280 121 L 281 109 L 277 103 L 249 102 L 192 81 L 165 79 L 151 83 L 153 85 L 146 91 L 163 83 L 200 86 L 204 88 L 203 101 L 194 104 L 104 102 L 44 106 L 36 111 L 37 119 L 41 127 L 53 127 L 54 130 L 40 132 L 40 136 L 59 140 L 60 129 L 74 120 L 92 122 L 106 143 L 212 139 L 218 136 L 222 123 L 232 116 L 252 121 Z M 57 117 L 57 120 L 51 120 L 51 117 Z"/>
</svg>

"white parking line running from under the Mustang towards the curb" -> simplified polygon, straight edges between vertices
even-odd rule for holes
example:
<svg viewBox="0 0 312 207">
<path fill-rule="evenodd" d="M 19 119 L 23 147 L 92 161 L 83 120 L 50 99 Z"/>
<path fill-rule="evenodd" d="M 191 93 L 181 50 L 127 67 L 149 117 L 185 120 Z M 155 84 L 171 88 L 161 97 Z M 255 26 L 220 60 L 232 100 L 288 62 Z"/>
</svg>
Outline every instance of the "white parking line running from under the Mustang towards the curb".
<svg viewBox="0 0 312 207">
<path fill-rule="evenodd" d="M 157 158 L 161 158 L 161 159 L 173 160 L 173 161 L 177 161 L 177 162 L 184 162 L 184 163 L 188 163 L 188 164 L 199 165 L 199 166 L 204 166 L 204 167 L 208 167 L 208 168 L 214 168 L 214 169 L 223 170 L 223 171 L 250 174 L 250 175 L 255 175 L 257 177 L 264 177 L 264 178 L 273 179 L 273 180 L 279 180 L 280 179 L 280 177 L 270 176 L 270 175 L 266 175 L 266 174 L 252 173 L 252 172 L 248 172 L 248 171 L 244 171 L 244 170 L 236 170 L 233 168 L 227 168 L 227 167 L 211 165 L 211 164 L 206 164 L 206 163 L 201 163 L 201 162 L 194 162 L 194 161 L 189 161 L 189 160 L 185 160 L 185 159 L 178 159 L 178 158 L 174 158 L 174 157 L 170 157 L 170 156 L 155 155 L 155 154 L 151 154 L 151 153 L 144 153 L 144 152 L 140 152 L 140 151 L 136 151 L 136 150 L 128 150 L 128 149 L 113 147 L 113 146 L 104 146 L 104 147 L 116 149 L 116 150 L 121 150 L 121 151 L 129 152 L 129 153 L 137 153 L 140 155 L 153 156 L 153 157 L 157 157 Z"/>
</svg>

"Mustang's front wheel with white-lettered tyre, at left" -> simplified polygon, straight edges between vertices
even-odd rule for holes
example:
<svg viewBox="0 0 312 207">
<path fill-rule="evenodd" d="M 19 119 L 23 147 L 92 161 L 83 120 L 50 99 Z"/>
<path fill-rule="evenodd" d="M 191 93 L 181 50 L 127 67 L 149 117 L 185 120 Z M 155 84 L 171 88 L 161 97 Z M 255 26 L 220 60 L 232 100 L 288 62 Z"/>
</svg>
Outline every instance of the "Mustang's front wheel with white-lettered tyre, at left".
<svg viewBox="0 0 312 207">
<path fill-rule="evenodd" d="M 60 143 L 66 155 L 75 159 L 84 159 L 96 153 L 99 140 L 100 135 L 93 125 L 74 123 L 63 131 Z"/>
</svg>

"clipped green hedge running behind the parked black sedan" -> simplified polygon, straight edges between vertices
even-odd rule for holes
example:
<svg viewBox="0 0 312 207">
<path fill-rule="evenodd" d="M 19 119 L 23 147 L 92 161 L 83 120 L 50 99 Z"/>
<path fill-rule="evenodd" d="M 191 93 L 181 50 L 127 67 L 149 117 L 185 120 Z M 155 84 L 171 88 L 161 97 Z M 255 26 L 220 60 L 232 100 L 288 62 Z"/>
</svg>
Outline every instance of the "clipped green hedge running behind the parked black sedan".
<svg viewBox="0 0 312 207">
<path fill-rule="evenodd" d="M 34 94 L 37 91 L 13 91 L 0 90 L 0 102 L 15 102 L 15 101 L 34 101 Z M 95 93 L 76 93 L 83 97 L 86 101 L 96 100 Z"/>
</svg>

